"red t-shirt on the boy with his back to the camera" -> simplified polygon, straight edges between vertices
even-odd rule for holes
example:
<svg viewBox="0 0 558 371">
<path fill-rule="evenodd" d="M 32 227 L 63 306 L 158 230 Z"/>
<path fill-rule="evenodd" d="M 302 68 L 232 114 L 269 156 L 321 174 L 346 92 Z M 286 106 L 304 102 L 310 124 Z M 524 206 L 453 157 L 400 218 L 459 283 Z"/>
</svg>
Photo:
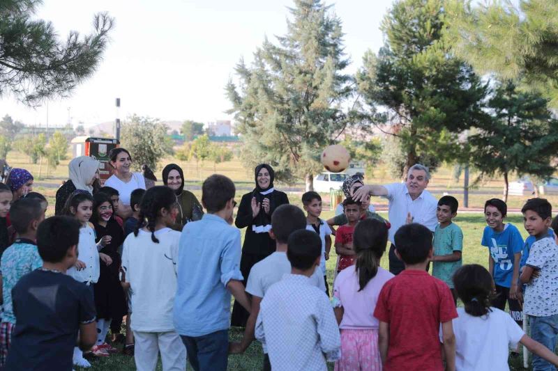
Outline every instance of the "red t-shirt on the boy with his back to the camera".
<svg viewBox="0 0 558 371">
<path fill-rule="evenodd" d="M 382 287 L 374 316 L 389 324 L 384 370 L 444 370 L 439 327 L 458 316 L 448 285 L 406 269 Z"/>
</svg>

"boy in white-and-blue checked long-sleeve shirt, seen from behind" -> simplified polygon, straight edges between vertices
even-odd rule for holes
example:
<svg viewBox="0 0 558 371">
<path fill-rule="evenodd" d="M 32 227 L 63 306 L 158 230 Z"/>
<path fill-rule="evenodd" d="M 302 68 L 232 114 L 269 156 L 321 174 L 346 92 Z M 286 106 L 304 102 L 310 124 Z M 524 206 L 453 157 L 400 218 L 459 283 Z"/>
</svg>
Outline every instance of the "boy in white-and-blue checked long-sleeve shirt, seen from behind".
<svg viewBox="0 0 558 371">
<path fill-rule="evenodd" d="M 291 273 L 267 290 L 255 335 L 266 346 L 273 371 L 326 371 L 326 360 L 341 356 L 341 338 L 329 299 L 310 283 L 322 242 L 315 232 L 297 230 L 288 246 Z"/>
</svg>

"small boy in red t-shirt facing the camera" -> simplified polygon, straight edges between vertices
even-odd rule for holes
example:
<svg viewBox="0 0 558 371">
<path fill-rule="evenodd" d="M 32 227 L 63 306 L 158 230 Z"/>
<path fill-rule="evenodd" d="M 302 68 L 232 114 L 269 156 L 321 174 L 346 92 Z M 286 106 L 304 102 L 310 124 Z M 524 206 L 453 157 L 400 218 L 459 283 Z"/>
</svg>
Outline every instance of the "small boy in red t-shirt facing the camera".
<svg viewBox="0 0 558 371">
<path fill-rule="evenodd" d="M 361 219 L 361 203 L 346 198 L 343 201 L 343 211 L 347 217 L 347 224 L 340 226 L 335 232 L 335 253 L 339 255 L 337 273 L 354 265 L 356 256 L 353 248 L 353 232 L 356 223 Z"/>
</svg>

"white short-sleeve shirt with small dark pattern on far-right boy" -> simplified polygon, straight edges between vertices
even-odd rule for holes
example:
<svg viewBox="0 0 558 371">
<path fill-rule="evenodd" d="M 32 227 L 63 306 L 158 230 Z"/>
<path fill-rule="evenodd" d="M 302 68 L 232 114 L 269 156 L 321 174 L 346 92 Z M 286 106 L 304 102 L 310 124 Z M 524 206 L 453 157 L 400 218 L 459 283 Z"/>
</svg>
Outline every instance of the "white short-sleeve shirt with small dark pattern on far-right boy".
<svg viewBox="0 0 558 371">
<path fill-rule="evenodd" d="M 558 314 L 558 246 L 554 238 L 544 237 L 531 246 L 527 266 L 541 275 L 525 287 L 523 311 L 536 317 Z"/>
</svg>

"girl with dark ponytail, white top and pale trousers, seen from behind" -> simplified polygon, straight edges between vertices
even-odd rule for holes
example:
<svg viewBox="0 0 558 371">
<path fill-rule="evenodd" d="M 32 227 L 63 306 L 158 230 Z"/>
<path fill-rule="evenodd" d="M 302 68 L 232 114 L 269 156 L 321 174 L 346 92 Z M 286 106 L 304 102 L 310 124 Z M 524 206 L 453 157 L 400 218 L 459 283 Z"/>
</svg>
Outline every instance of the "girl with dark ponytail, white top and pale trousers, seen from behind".
<svg viewBox="0 0 558 371">
<path fill-rule="evenodd" d="M 186 347 L 174 330 L 172 318 L 181 233 L 171 227 L 177 214 L 179 205 L 172 189 L 148 189 L 140 203 L 136 228 L 124 241 L 123 281 L 132 292 L 137 370 L 154 370 L 159 352 L 163 370 L 184 370 L 186 366 Z"/>
</svg>

